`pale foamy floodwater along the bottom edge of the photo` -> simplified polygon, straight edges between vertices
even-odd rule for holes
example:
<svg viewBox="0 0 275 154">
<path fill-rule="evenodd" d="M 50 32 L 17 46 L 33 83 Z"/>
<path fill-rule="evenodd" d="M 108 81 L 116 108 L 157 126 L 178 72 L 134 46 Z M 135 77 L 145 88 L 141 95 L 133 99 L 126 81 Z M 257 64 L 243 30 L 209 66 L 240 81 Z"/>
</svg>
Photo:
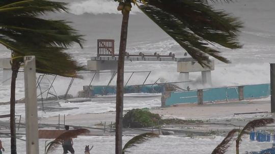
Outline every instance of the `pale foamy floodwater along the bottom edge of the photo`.
<svg viewBox="0 0 275 154">
<path fill-rule="evenodd" d="M 123 145 L 130 140 L 131 136 L 123 137 Z M 25 139 L 23 137 L 22 139 Z M 2 144 L 6 147 L 7 153 L 10 152 L 10 138 L 1 138 Z M 39 140 L 40 153 L 44 152 L 44 144 L 48 139 Z M 223 137 L 215 136 L 215 139 L 191 139 L 189 137 L 177 137 L 177 136 L 160 136 L 160 138 L 150 139 L 148 142 L 139 144 L 136 147 L 129 148 L 131 153 L 211 153 L 213 149 L 221 143 Z M 79 136 L 73 140 L 74 150 L 77 153 L 81 153 L 85 148 L 85 145 L 94 145 L 91 150 L 92 153 L 109 154 L 115 153 L 115 137 L 114 136 Z M 270 142 L 257 142 L 250 141 L 249 138 L 242 139 L 240 146 L 240 153 L 244 151 L 260 151 L 271 147 Z M 229 147 L 227 153 L 233 154 L 235 152 L 235 143 L 232 141 L 232 145 Z M 17 140 L 17 153 L 25 153 L 25 141 Z M 62 147 L 56 149 L 56 153 L 62 153 Z"/>
</svg>

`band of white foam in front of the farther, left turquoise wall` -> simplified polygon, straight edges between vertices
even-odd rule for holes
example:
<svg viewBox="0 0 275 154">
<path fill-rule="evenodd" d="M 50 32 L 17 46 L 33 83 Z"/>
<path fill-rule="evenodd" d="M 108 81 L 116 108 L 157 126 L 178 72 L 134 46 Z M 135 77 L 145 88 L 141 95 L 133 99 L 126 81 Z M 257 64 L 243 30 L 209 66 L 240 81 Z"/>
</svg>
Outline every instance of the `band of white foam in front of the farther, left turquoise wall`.
<svg viewBox="0 0 275 154">
<path fill-rule="evenodd" d="M 130 95 L 131 96 L 131 95 Z M 72 110 L 59 110 L 59 111 L 38 111 L 38 117 L 47 118 L 47 117 L 56 117 L 59 114 L 63 115 L 79 115 L 79 114 L 88 114 L 88 113 L 102 113 L 107 111 L 116 110 L 116 101 L 93 101 L 93 102 L 82 102 L 82 103 L 65 103 L 61 102 L 62 107 L 76 107 Z M 131 99 L 124 100 L 124 110 L 133 109 L 133 108 L 151 108 L 151 107 L 160 107 L 160 96 L 148 98 L 148 99 Z M 0 107 L 1 114 L 10 113 L 10 105 L 1 105 Z M 15 105 L 15 114 L 22 115 L 22 118 L 25 117 L 25 104 L 16 104 Z M 8 119 L 7 119 L 8 120 Z"/>
</svg>

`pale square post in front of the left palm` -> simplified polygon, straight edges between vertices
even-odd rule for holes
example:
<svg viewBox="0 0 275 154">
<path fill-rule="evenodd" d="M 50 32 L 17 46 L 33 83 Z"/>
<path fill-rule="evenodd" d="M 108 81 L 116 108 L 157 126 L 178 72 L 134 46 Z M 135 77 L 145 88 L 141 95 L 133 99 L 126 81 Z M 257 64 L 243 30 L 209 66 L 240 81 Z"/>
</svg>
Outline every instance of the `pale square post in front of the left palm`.
<svg viewBox="0 0 275 154">
<path fill-rule="evenodd" d="M 26 153 L 39 154 L 35 56 L 24 56 Z"/>
</svg>

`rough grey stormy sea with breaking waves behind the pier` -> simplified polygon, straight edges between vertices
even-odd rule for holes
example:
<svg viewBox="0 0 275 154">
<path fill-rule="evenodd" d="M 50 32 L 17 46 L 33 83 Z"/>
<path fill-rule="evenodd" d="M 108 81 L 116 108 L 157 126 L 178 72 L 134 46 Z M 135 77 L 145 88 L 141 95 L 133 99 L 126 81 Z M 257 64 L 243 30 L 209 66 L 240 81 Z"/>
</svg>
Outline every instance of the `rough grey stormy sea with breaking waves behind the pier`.
<svg viewBox="0 0 275 154">
<path fill-rule="evenodd" d="M 69 13 L 48 14 L 45 18 L 65 19 L 72 21 L 72 26 L 85 34 L 85 49 L 74 46 L 67 52 L 81 63 L 86 64 L 91 56 L 96 56 L 97 39 L 114 39 L 115 50 L 118 52 L 122 15 L 117 11 L 118 3 L 113 0 L 90 1 L 65 1 L 69 2 Z M 240 41 L 244 45 L 240 50 L 229 50 L 222 47 L 222 55 L 231 60 L 231 64 L 224 64 L 215 60 L 215 70 L 212 71 L 212 83 L 217 86 L 233 86 L 244 84 L 264 84 L 269 80 L 269 63 L 275 62 L 275 1 L 242 0 L 235 3 L 213 4 L 216 9 L 225 9 L 240 17 L 245 23 L 242 29 Z M 127 52 L 130 54 L 159 53 L 167 55 L 170 52 L 176 57 L 183 57 L 183 50 L 154 22 L 145 16 L 137 7 L 132 8 L 128 28 Z M 9 56 L 9 51 L 0 47 L 0 56 Z M 126 71 L 152 71 L 148 83 L 154 83 L 157 79 L 163 82 L 180 81 L 176 62 L 129 62 L 125 63 Z M 0 73 L 2 77 L 2 73 Z M 145 74 L 135 74 L 134 79 L 144 79 Z M 190 88 L 202 88 L 201 73 L 190 73 Z M 1 78 L 2 80 L 2 78 Z M 71 79 L 57 80 L 55 90 L 64 91 L 61 83 L 69 83 Z M 106 79 L 108 80 L 108 79 Z M 114 79 L 115 80 L 115 79 Z M 103 81 L 105 83 L 106 81 Z M 60 83 L 60 84 L 58 84 Z M 102 84 L 103 84 L 102 83 Z M 135 83 L 129 83 L 129 85 Z M 66 84 L 63 84 L 66 85 Z M 79 84 L 80 85 L 80 84 Z M 80 85 L 81 87 L 83 85 Z M 1 99 L 9 100 L 9 86 L 0 88 Z M 75 91 L 76 95 L 77 91 Z M 17 82 L 17 98 L 23 97 L 23 76 L 19 74 Z"/>
</svg>

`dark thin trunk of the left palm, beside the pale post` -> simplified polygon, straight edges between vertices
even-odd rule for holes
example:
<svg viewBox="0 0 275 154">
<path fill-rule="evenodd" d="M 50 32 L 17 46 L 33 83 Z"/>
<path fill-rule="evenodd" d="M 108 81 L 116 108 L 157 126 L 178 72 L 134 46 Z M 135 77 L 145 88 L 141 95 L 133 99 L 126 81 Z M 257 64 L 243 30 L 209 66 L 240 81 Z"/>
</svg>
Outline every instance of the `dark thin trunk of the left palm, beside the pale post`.
<svg viewBox="0 0 275 154">
<path fill-rule="evenodd" d="M 15 86 L 19 66 L 14 63 L 12 66 L 11 79 L 11 100 L 10 100 L 10 129 L 11 129 L 11 154 L 16 154 L 16 125 L 15 125 Z"/>
</svg>

